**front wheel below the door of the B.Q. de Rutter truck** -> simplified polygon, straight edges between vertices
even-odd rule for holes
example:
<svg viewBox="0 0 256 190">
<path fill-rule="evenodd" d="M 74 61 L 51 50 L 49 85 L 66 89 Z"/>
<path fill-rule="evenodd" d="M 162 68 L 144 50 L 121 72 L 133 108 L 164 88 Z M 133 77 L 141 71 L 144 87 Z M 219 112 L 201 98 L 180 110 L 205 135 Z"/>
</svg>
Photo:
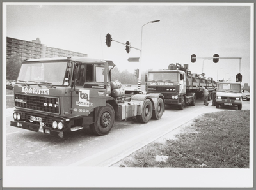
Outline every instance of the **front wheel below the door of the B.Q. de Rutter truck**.
<svg viewBox="0 0 256 190">
<path fill-rule="evenodd" d="M 100 107 L 95 122 L 90 125 L 90 129 L 95 135 L 106 135 L 109 133 L 115 122 L 115 111 L 108 103 L 105 107 Z"/>
</svg>

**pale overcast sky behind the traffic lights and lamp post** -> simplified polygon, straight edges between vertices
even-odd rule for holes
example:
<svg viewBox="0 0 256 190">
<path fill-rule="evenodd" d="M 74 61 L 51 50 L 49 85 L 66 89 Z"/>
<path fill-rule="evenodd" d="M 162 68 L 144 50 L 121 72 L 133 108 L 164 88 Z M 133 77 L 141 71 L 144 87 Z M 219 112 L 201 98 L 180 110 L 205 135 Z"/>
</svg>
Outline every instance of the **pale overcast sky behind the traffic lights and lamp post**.
<svg viewBox="0 0 256 190">
<path fill-rule="evenodd" d="M 197 57 L 242 57 L 243 83 L 250 84 L 250 4 L 173 4 L 173 3 L 100 3 L 100 4 L 13 4 L 6 8 L 6 36 L 35 40 L 49 46 L 81 52 L 88 57 L 113 60 L 120 70 L 133 72 L 140 57 L 134 48 L 112 41 L 106 46 L 106 34 L 113 40 L 141 48 L 142 66 L 165 69 L 168 64 L 189 64 L 192 73 L 202 73 L 204 59 Z M 204 61 L 206 77 L 214 80 L 236 77 L 239 59 Z"/>
</svg>

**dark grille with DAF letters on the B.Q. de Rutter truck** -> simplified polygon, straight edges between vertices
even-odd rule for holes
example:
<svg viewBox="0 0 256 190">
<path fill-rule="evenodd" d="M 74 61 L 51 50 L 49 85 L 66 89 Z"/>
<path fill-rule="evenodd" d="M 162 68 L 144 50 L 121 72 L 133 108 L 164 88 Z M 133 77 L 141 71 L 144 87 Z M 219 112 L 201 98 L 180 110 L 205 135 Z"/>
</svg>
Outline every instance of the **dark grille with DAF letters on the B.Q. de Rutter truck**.
<svg viewBox="0 0 256 190">
<path fill-rule="evenodd" d="M 15 106 L 48 113 L 60 113 L 59 99 L 42 96 L 14 94 Z"/>
</svg>

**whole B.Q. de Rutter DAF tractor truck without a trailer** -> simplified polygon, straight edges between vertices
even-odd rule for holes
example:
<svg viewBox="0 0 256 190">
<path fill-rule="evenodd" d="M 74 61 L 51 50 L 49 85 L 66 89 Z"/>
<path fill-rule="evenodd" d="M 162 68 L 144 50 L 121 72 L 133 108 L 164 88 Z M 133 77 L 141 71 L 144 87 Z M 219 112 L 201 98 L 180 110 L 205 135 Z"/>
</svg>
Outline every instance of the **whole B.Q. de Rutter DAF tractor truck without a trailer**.
<svg viewBox="0 0 256 190">
<path fill-rule="evenodd" d="M 95 135 L 106 135 L 115 119 L 161 119 L 163 94 L 125 97 L 122 84 L 111 82 L 114 66 L 88 57 L 22 61 L 11 126 L 60 137 L 90 126 Z"/>
</svg>

